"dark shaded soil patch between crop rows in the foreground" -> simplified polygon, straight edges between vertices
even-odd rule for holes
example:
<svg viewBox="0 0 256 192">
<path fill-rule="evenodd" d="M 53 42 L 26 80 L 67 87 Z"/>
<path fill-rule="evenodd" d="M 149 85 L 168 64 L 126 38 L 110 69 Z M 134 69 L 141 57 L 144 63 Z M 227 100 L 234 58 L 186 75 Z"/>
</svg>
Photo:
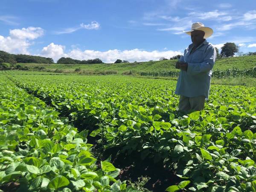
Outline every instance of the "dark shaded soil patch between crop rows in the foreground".
<svg viewBox="0 0 256 192">
<path fill-rule="evenodd" d="M 153 192 L 164 192 L 167 187 L 182 181 L 173 170 L 166 168 L 162 161 L 154 163 L 152 158 L 141 160 L 139 152 L 113 156 L 114 153 L 105 151 L 105 155 L 112 154 L 111 163 L 121 169 L 116 179 L 131 180 L 134 183 L 139 177 L 150 177 L 144 187 Z"/>
</svg>

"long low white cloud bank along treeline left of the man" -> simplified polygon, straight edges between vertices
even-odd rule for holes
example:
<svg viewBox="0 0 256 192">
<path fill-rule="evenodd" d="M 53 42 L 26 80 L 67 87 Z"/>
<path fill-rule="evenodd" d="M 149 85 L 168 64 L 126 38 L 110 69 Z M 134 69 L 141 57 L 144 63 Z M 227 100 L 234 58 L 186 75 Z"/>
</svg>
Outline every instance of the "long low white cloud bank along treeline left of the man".
<svg viewBox="0 0 256 192">
<path fill-rule="evenodd" d="M 44 47 L 41 51 L 41 55 L 44 57 L 54 58 L 55 61 L 61 57 L 70 57 L 79 60 L 88 60 L 94 58 L 100 58 L 103 62 L 113 63 L 116 59 L 128 60 L 128 61 L 149 61 L 159 60 L 161 57 L 170 58 L 175 55 L 181 55 L 180 51 L 145 51 L 142 49 L 131 49 L 131 50 L 118 50 L 111 49 L 108 51 L 95 51 L 95 50 L 84 50 L 73 49 L 70 52 L 64 53 L 64 46 L 56 45 L 54 43 Z"/>
</svg>

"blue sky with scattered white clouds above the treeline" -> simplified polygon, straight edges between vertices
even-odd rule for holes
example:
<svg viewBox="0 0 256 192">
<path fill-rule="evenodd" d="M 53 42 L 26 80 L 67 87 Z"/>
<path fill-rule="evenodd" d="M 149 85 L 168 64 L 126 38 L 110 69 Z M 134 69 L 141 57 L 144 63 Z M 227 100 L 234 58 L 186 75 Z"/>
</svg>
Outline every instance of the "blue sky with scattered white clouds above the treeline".
<svg viewBox="0 0 256 192">
<path fill-rule="evenodd" d="M 159 60 L 183 54 L 192 23 L 213 29 L 221 51 L 256 51 L 255 0 L 1 0 L 0 50 L 57 61 Z"/>
</svg>

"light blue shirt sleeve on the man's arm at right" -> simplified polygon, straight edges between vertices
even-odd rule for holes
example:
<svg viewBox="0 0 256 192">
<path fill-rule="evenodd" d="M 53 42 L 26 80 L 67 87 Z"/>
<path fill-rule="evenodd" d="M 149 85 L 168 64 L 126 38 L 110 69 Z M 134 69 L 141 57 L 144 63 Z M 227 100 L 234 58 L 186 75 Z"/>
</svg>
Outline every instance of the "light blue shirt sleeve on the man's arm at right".
<svg viewBox="0 0 256 192">
<path fill-rule="evenodd" d="M 198 73 L 208 72 L 216 60 L 216 50 L 213 46 L 209 46 L 204 53 L 204 62 L 202 63 L 188 63 L 187 73 L 190 75 L 197 75 Z"/>
</svg>

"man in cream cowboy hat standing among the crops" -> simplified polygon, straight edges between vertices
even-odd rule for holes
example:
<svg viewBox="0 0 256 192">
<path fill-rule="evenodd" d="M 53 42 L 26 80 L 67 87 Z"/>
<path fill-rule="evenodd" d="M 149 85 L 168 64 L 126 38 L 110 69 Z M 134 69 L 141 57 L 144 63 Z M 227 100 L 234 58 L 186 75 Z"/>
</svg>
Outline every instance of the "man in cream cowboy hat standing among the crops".
<svg viewBox="0 0 256 192">
<path fill-rule="evenodd" d="M 206 41 L 213 33 L 211 28 L 198 22 L 193 23 L 191 31 L 185 33 L 191 35 L 192 44 L 176 63 L 180 76 L 175 94 L 180 95 L 179 110 L 189 113 L 204 109 L 217 53 L 215 47 Z"/>
</svg>

